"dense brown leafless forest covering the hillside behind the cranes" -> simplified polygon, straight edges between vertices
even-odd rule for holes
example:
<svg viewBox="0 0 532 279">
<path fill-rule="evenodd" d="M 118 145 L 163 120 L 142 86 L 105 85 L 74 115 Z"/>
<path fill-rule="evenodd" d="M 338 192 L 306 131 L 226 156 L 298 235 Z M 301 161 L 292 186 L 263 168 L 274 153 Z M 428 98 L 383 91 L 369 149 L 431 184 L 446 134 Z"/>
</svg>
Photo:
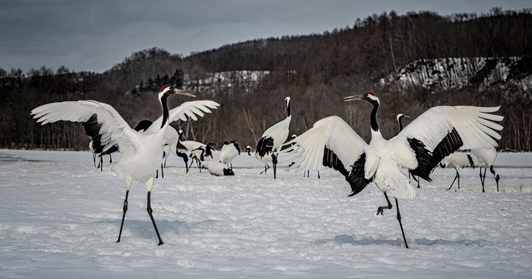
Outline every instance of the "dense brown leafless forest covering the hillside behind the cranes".
<svg viewBox="0 0 532 279">
<path fill-rule="evenodd" d="M 420 61 L 453 59 L 462 59 L 460 69 L 467 73 L 461 86 L 393 82 Z M 486 83 L 505 59 L 513 59 L 505 74 Z M 469 63 L 473 60 L 480 62 Z M 392 11 L 323 34 L 255 39 L 186 57 L 154 47 L 131 54 L 103 73 L 46 66 L 27 72 L 0 68 L 0 147 L 87 149 L 89 138 L 80 124 L 40 126 L 30 111 L 49 102 L 97 100 L 111 104 L 133 127 L 160 116 L 155 93 L 172 84 L 196 94 L 198 100 L 222 105 L 197 122 L 172 123 L 185 130 L 185 138 L 218 147 L 232 139 L 254 146 L 265 128 L 285 118 L 286 96 L 292 98 L 291 134 L 338 115 L 369 139 L 371 106 L 342 99 L 373 91 L 380 98 L 379 127 L 386 138 L 398 132 L 399 112 L 415 118 L 435 105 L 502 105 L 498 113 L 505 117 L 505 128 L 500 149 L 531 151 L 532 114 L 526 113 L 532 108 L 531 78 L 530 10 L 493 8 L 488 14 L 446 16 Z M 211 84 L 205 86 L 205 80 Z M 509 80 L 511 86 L 506 84 Z M 188 100 L 175 97 L 169 106 Z"/>
</svg>

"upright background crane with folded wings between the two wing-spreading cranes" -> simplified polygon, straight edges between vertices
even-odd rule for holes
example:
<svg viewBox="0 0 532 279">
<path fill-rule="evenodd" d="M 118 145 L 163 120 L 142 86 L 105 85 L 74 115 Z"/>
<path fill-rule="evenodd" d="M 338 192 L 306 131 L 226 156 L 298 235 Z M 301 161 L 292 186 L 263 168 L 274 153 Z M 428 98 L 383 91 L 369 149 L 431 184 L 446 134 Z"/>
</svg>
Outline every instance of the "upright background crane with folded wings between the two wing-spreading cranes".
<svg viewBox="0 0 532 279">
<path fill-rule="evenodd" d="M 263 157 L 268 157 L 268 155 L 271 155 L 272 157 L 273 179 L 275 179 L 277 170 L 277 155 L 273 154 L 273 152 L 279 152 L 281 150 L 280 146 L 288 137 L 288 128 L 290 127 L 290 120 L 292 120 L 292 114 L 290 113 L 290 97 L 285 98 L 285 104 L 286 118 L 266 129 L 257 143 L 256 153 L 259 155 L 257 157 L 259 160 Z"/>
</svg>

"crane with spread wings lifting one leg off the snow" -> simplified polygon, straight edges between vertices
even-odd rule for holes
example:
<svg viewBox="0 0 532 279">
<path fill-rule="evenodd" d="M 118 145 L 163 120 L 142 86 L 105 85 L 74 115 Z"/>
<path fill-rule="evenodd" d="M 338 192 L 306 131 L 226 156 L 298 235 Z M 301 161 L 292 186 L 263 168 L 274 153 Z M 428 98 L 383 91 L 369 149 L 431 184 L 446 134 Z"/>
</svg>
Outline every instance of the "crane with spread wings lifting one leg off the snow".
<svg viewBox="0 0 532 279">
<path fill-rule="evenodd" d="M 392 209 L 387 192 L 394 195 L 397 220 L 401 227 L 406 248 L 401 214 L 397 199 L 415 198 L 414 188 L 403 174 L 408 168 L 413 175 L 431 181 L 429 175 L 448 154 L 458 149 L 473 149 L 496 145 L 501 136 L 494 130 L 502 126 L 492 121 L 501 121 L 502 116 L 489 114 L 495 108 L 475 106 L 435 106 L 406 126 L 401 133 L 386 140 L 377 124 L 379 99 L 372 92 L 345 97 L 345 101 L 364 100 L 373 105 L 370 115 L 371 141 L 369 144 L 356 134 L 347 123 L 337 116 L 315 122 L 314 126 L 285 145 L 284 162 L 294 161 L 287 170 L 306 171 L 325 169 L 338 170 L 351 185 L 353 196 L 373 182 L 384 193 L 387 206 Z"/>
</svg>

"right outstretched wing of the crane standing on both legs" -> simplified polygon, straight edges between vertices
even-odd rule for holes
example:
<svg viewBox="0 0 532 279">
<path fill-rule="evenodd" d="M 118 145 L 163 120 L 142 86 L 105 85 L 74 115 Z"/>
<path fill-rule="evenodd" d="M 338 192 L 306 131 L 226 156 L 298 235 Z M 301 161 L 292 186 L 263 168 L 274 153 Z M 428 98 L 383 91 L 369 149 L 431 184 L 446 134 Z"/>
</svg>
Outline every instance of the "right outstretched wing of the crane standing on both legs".
<svg viewBox="0 0 532 279">
<path fill-rule="evenodd" d="M 198 120 L 197 116 L 203 117 L 205 116 L 205 112 L 211 113 L 209 108 L 217 109 L 218 106 L 220 106 L 219 103 L 209 100 L 189 101 L 182 103 L 177 108 L 171 109 L 169 111 L 170 123 L 179 119 L 187 121 L 187 116 L 193 120 Z M 153 121 L 153 124 L 146 130 L 146 133 L 157 132 L 157 129 L 161 127 L 162 121 L 162 116 L 157 118 L 157 120 Z"/>
</svg>

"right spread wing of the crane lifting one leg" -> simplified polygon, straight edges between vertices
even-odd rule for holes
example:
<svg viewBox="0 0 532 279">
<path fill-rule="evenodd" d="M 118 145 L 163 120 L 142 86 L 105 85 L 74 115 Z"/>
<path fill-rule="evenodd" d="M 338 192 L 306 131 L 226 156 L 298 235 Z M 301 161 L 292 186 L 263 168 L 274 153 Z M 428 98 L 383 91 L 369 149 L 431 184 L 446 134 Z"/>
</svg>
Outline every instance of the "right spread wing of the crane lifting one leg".
<svg viewBox="0 0 532 279">
<path fill-rule="evenodd" d="M 438 163 L 456 150 L 497 146 L 495 130 L 502 116 L 491 114 L 500 108 L 478 106 L 435 106 L 422 113 L 397 136 L 390 139 L 402 167 L 427 181 Z"/>
</svg>

